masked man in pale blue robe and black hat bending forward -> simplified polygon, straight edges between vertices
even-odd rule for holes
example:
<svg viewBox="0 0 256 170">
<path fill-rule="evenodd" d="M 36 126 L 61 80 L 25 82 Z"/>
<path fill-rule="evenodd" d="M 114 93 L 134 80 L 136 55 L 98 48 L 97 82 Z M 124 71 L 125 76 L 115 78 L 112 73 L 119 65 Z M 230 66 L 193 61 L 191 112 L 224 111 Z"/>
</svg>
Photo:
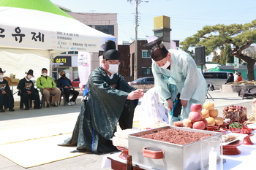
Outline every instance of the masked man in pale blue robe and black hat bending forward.
<svg viewBox="0 0 256 170">
<path fill-rule="evenodd" d="M 192 104 L 203 106 L 206 101 L 206 80 L 189 54 L 180 50 L 167 50 L 162 40 L 163 37 L 145 45 L 153 59 L 152 72 L 157 82 L 159 100 L 172 110 L 173 101 L 180 94 L 183 107 L 181 118 L 188 118 Z"/>
</svg>

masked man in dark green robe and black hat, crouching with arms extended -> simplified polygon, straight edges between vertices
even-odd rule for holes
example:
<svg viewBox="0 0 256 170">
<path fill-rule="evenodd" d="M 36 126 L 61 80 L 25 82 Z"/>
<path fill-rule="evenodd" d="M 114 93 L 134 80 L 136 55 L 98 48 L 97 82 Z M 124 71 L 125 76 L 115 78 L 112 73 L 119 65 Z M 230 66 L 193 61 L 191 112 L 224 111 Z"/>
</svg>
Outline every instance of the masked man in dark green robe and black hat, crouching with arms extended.
<svg viewBox="0 0 256 170">
<path fill-rule="evenodd" d="M 78 152 L 96 153 L 116 150 L 111 139 L 119 123 L 132 128 L 133 115 L 143 90 L 135 90 L 118 74 L 119 53 L 115 42 L 105 43 L 102 66 L 94 69 L 86 84 L 84 100 L 72 137 L 59 146 L 76 146 Z"/>
</svg>

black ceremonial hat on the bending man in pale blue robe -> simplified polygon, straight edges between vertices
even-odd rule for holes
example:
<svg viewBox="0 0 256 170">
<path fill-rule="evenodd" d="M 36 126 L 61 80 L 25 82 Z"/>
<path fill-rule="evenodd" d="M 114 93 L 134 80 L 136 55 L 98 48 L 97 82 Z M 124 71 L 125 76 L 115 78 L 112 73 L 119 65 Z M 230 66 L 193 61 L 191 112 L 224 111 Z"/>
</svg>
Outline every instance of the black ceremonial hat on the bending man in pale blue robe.
<svg viewBox="0 0 256 170">
<path fill-rule="evenodd" d="M 144 45 L 148 49 L 148 53 L 154 61 L 162 60 L 162 58 L 167 57 L 167 54 L 169 53 L 165 48 L 165 45 L 162 44 L 163 39 L 164 37 L 162 36 L 159 39 Z"/>
</svg>

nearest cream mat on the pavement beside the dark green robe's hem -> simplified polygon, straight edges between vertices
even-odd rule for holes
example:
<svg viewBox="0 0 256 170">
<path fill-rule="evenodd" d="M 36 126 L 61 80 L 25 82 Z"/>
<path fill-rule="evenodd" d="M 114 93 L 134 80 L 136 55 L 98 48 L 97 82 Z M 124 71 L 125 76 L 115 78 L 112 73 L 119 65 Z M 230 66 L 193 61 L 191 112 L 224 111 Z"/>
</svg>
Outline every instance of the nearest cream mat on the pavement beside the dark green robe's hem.
<svg viewBox="0 0 256 170">
<path fill-rule="evenodd" d="M 0 155 L 24 168 L 29 168 L 86 154 L 86 152 L 70 152 L 76 150 L 76 147 L 60 147 L 57 145 L 63 143 L 71 135 L 72 133 L 1 144 Z"/>
</svg>

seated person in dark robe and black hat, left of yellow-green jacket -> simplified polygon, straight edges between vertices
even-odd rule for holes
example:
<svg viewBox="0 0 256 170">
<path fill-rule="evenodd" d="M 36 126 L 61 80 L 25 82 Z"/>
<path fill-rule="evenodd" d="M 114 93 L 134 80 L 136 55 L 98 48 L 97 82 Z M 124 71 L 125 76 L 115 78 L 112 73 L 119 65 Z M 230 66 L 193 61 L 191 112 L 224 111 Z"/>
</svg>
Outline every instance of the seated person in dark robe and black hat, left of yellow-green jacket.
<svg viewBox="0 0 256 170">
<path fill-rule="evenodd" d="M 24 103 L 25 110 L 28 110 L 30 108 L 29 98 L 31 98 L 31 100 L 34 100 L 34 109 L 41 109 L 38 90 L 34 88 L 34 82 L 31 81 L 31 78 L 34 77 L 33 70 L 30 69 L 25 74 L 26 77 L 20 80 L 17 87 L 20 90 L 20 101 L 23 101 L 20 103 Z"/>
</svg>

